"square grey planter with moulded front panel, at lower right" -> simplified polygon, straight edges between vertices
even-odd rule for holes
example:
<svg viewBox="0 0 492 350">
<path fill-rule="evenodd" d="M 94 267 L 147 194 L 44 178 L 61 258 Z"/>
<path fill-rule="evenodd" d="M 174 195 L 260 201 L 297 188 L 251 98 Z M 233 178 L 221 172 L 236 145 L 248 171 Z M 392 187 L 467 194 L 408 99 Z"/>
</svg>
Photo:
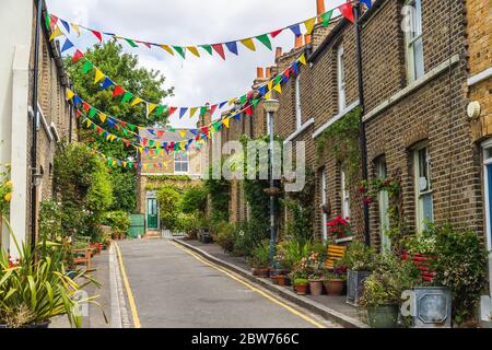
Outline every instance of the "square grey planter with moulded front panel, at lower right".
<svg viewBox="0 0 492 350">
<path fill-rule="evenodd" d="M 452 293 L 443 287 L 417 287 L 413 326 L 415 328 L 450 328 Z"/>
</svg>

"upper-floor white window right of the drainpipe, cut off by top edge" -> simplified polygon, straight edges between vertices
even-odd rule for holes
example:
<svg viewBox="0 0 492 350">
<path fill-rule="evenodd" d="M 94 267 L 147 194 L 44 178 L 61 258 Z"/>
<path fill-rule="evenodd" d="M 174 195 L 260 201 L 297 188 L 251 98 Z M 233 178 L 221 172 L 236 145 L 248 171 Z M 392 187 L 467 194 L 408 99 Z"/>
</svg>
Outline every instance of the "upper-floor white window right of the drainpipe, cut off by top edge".
<svg viewBox="0 0 492 350">
<path fill-rule="evenodd" d="M 409 27 L 405 31 L 405 52 L 407 59 L 407 78 L 409 83 L 414 82 L 425 74 L 423 57 L 423 35 L 422 35 L 422 2 L 421 0 L 408 0 L 407 7 L 411 9 L 406 12 L 409 16 Z M 417 57 L 414 45 L 418 40 L 422 42 L 422 55 Z M 417 60 L 420 61 L 422 72 L 417 72 Z"/>
</svg>

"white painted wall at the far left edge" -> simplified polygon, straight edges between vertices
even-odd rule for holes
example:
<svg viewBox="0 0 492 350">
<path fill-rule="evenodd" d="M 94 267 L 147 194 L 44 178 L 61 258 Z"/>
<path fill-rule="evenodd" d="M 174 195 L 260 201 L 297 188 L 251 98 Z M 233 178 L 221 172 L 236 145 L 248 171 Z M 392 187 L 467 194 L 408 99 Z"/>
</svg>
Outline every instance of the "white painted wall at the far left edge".
<svg viewBox="0 0 492 350">
<path fill-rule="evenodd" d="M 25 240 L 27 202 L 28 62 L 33 43 L 32 0 L 2 0 L 0 11 L 0 163 L 12 164 L 11 224 Z M 12 140 L 15 140 L 12 144 Z M 26 189 L 27 188 L 27 189 Z M 4 228 L 2 246 L 12 248 Z"/>
</svg>

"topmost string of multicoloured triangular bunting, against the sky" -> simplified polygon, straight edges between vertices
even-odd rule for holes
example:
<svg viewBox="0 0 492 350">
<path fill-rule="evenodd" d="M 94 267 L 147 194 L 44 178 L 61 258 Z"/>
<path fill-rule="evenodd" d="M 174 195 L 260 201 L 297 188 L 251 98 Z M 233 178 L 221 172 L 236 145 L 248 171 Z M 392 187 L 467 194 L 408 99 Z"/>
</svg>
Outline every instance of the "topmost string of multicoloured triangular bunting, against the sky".
<svg viewBox="0 0 492 350">
<path fill-rule="evenodd" d="M 371 0 L 362 0 L 362 2 L 365 3 L 367 8 L 371 8 Z M 91 33 L 92 35 L 94 35 L 99 43 L 103 42 L 103 37 L 108 36 L 110 38 L 114 38 L 114 39 L 117 39 L 120 42 L 125 42 L 126 44 L 128 44 L 130 47 L 133 47 L 133 48 L 139 47 L 139 44 L 143 45 L 150 49 L 153 47 L 159 47 L 161 49 L 164 49 L 167 54 L 169 54 L 172 56 L 181 57 L 183 59 L 186 59 L 186 54 L 188 51 L 191 52 L 195 57 L 200 58 L 201 57 L 200 50 L 201 50 L 202 54 L 207 52 L 210 56 L 213 56 L 215 54 L 215 55 L 219 55 L 223 60 L 225 60 L 225 58 L 226 58 L 225 49 L 227 49 L 227 51 L 230 54 L 238 56 L 239 55 L 239 49 L 238 49 L 239 44 L 241 44 L 241 46 L 244 46 L 251 51 L 256 51 L 256 49 L 257 49 L 255 43 L 261 44 L 262 46 L 267 47 L 269 50 L 272 50 L 271 39 L 274 39 L 277 36 L 279 36 L 284 31 L 292 32 L 295 35 L 295 37 L 298 37 L 303 34 L 312 34 L 313 30 L 316 25 L 316 22 L 321 23 L 321 25 L 325 27 L 329 25 L 335 10 L 338 10 L 341 13 L 341 15 L 343 15 L 350 22 L 352 22 L 352 23 L 354 22 L 352 3 L 345 2 L 335 9 L 329 10 L 328 12 L 325 12 L 325 13 L 318 15 L 318 16 L 311 18 L 305 21 L 297 22 L 297 23 L 294 23 L 294 24 L 291 24 L 291 25 L 288 25 L 288 26 L 268 32 L 268 33 L 260 34 L 260 35 L 246 37 L 246 38 L 242 38 L 242 39 L 235 39 L 232 42 L 224 42 L 224 43 L 216 43 L 216 44 L 202 44 L 202 45 L 185 45 L 185 46 L 175 45 L 175 44 L 157 44 L 157 43 L 145 42 L 145 40 L 140 40 L 140 39 L 136 39 L 136 38 L 124 37 L 124 36 L 120 36 L 120 35 L 114 34 L 114 33 L 107 33 L 107 32 L 103 32 L 101 30 L 94 30 L 94 28 L 83 26 L 81 24 L 69 22 L 69 21 L 63 20 L 52 13 L 47 14 L 46 26 L 48 28 L 52 30 L 51 37 L 57 37 L 57 36 L 63 35 L 60 26 L 57 25 L 57 23 L 60 22 L 61 26 L 63 26 L 63 28 L 68 33 L 74 32 L 80 36 L 81 31 L 83 30 L 86 33 Z M 177 55 L 175 55 L 175 54 L 177 54 Z"/>
</svg>

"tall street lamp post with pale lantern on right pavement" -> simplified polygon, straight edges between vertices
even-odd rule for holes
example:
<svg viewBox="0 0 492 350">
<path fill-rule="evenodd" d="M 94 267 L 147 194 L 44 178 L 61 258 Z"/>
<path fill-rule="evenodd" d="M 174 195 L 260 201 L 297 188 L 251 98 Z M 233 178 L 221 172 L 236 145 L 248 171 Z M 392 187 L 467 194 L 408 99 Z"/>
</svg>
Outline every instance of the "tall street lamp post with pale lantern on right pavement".
<svg viewBox="0 0 492 350">
<path fill-rule="evenodd" d="M 280 103 L 278 100 L 266 100 L 263 108 L 268 114 L 268 135 L 270 137 L 270 264 L 273 265 L 276 255 L 276 197 L 273 194 L 274 179 L 273 179 L 273 115 L 279 110 Z"/>
</svg>

